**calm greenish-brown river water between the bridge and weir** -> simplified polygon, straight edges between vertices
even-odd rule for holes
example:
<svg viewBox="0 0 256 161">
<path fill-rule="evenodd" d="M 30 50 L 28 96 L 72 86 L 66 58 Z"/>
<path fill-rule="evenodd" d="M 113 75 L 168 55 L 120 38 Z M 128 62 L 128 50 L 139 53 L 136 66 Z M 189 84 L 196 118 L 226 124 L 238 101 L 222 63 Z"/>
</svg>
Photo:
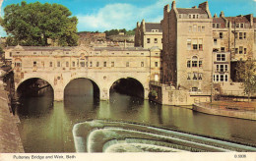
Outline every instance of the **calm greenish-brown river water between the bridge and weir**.
<svg viewBox="0 0 256 161">
<path fill-rule="evenodd" d="M 93 97 L 89 80 L 74 80 L 62 102 L 52 101 L 51 91 L 20 100 L 19 131 L 26 152 L 75 152 L 72 129 L 93 119 L 125 121 L 256 143 L 256 122 L 206 115 L 190 109 L 165 106 L 112 92 L 109 101 Z"/>
</svg>

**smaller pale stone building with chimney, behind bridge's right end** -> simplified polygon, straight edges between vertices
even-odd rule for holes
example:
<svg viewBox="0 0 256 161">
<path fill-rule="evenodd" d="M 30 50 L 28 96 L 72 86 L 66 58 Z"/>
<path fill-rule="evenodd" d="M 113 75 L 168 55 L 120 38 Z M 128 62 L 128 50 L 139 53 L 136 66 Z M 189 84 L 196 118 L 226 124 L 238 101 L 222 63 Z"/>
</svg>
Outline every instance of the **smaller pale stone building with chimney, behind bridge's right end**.
<svg viewBox="0 0 256 161">
<path fill-rule="evenodd" d="M 137 23 L 135 31 L 134 45 L 143 48 L 152 48 L 154 46 L 162 49 L 162 28 L 160 23 Z"/>
</svg>

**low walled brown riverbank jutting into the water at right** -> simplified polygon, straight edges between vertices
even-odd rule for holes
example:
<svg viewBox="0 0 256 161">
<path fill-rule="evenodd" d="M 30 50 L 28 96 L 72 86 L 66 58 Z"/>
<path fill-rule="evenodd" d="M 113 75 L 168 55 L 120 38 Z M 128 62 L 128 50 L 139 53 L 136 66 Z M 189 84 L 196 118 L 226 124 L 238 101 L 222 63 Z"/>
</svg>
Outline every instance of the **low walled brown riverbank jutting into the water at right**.
<svg viewBox="0 0 256 161">
<path fill-rule="evenodd" d="M 256 121 L 256 102 L 200 102 L 193 104 L 193 110 L 210 115 Z"/>
</svg>

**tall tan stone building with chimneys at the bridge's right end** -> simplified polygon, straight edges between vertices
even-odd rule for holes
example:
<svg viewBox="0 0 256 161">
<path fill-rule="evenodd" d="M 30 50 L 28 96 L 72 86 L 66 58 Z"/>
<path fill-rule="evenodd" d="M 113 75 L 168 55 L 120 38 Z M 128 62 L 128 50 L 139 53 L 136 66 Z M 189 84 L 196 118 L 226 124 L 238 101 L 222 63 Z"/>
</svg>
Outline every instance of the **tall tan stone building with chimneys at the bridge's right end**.
<svg viewBox="0 0 256 161">
<path fill-rule="evenodd" d="M 192 92 L 211 89 L 213 19 L 208 2 L 199 7 L 176 8 L 175 1 L 163 9 L 163 83 Z"/>
</svg>

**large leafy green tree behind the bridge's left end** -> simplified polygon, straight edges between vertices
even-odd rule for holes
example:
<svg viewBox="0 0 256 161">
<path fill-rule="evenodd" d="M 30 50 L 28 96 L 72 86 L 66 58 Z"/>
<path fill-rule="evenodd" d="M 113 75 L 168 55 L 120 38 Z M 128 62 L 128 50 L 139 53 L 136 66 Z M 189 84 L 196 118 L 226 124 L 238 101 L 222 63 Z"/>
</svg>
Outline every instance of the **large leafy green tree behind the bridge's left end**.
<svg viewBox="0 0 256 161">
<path fill-rule="evenodd" d="M 21 5 L 7 6 L 4 13 L 0 23 L 12 43 L 46 46 L 50 38 L 60 46 L 77 45 L 78 20 L 60 4 L 27 4 L 23 1 Z"/>
</svg>

